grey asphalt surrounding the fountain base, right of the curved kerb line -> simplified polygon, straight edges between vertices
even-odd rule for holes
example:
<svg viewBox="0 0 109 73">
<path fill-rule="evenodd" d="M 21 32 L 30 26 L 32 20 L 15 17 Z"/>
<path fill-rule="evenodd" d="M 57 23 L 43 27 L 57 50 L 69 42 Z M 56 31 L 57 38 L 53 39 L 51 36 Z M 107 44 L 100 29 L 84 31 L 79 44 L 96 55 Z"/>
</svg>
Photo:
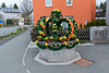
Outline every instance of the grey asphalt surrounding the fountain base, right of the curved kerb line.
<svg viewBox="0 0 109 73">
<path fill-rule="evenodd" d="M 29 48 L 25 59 L 31 73 L 108 73 L 109 72 L 109 45 L 76 47 L 83 58 L 95 61 L 88 68 L 72 63 L 66 66 L 46 66 L 34 60 L 38 48 Z"/>
</svg>

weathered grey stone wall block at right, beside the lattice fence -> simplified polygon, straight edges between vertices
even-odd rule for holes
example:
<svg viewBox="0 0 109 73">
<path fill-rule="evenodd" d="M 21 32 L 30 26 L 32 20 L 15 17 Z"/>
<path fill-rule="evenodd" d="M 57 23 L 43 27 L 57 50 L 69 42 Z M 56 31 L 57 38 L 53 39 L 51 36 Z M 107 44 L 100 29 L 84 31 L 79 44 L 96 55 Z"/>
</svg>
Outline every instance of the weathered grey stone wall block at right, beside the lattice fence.
<svg viewBox="0 0 109 73">
<path fill-rule="evenodd" d="M 109 26 L 90 27 L 90 40 L 95 44 L 109 42 Z"/>
</svg>

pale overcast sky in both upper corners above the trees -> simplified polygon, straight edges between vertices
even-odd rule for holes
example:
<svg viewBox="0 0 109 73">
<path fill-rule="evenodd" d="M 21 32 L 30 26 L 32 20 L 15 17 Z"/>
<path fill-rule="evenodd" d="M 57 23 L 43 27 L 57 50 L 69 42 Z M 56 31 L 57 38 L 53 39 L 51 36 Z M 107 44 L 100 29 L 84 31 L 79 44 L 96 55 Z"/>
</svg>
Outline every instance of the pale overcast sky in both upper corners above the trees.
<svg viewBox="0 0 109 73">
<path fill-rule="evenodd" d="M 10 4 L 14 4 L 16 3 L 17 5 L 20 5 L 20 2 L 22 0 L 0 0 L 0 5 L 2 2 L 5 2 L 5 4 L 9 7 Z M 105 2 L 106 0 L 96 0 L 96 4 L 100 4 L 100 2 Z"/>
</svg>

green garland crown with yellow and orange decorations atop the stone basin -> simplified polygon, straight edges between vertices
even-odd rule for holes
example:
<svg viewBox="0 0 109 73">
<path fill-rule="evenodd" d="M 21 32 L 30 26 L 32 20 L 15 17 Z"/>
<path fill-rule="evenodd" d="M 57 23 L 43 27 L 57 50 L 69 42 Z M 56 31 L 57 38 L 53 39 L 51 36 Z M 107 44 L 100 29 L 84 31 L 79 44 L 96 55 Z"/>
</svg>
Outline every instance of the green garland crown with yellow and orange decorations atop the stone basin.
<svg viewBox="0 0 109 73">
<path fill-rule="evenodd" d="M 68 23 L 68 28 L 62 29 L 62 22 Z M 61 11 L 58 9 L 51 12 L 50 17 L 43 17 L 37 22 L 37 40 L 39 48 L 51 50 L 60 50 L 63 47 L 71 49 L 78 44 L 75 34 L 77 32 L 77 24 L 74 20 L 62 17 Z"/>
</svg>

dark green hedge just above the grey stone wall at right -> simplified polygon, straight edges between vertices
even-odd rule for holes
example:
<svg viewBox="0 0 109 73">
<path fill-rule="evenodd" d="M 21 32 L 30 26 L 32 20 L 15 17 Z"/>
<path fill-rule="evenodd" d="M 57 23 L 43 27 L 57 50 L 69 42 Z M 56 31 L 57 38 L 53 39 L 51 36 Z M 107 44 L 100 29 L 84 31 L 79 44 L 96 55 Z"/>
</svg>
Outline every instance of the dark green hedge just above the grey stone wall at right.
<svg viewBox="0 0 109 73">
<path fill-rule="evenodd" d="M 87 25 L 85 25 L 85 28 L 92 27 L 92 26 L 107 26 L 107 23 L 105 20 L 96 20 L 96 21 L 92 21 L 90 23 L 87 23 Z"/>
</svg>

